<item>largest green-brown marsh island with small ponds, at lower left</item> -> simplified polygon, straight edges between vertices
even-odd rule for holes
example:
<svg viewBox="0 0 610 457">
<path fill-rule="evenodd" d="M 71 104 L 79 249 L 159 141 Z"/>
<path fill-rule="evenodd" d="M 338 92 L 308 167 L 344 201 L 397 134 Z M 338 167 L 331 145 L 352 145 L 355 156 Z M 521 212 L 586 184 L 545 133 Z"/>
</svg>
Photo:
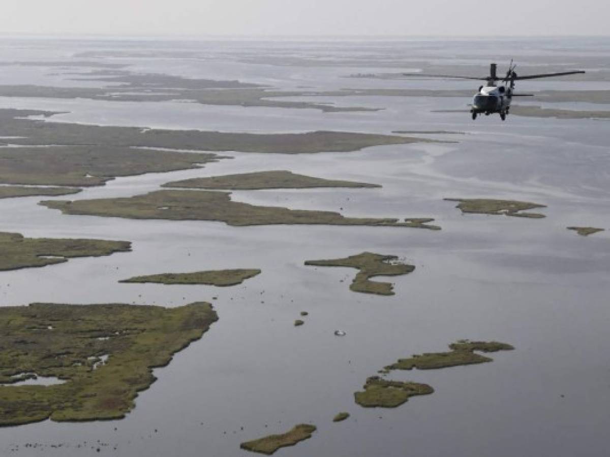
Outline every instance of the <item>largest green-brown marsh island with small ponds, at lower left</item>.
<svg viewBox="0 0 610 457">
<path fill-rule="evenodd" d="M 203 302 L 2 307 L 0 425 L 121 419 L 154 382 L 152 368 L 170 363 L 217 319 Z M 10 385 L 30 373 L 65 382 Z"/>
</svg>

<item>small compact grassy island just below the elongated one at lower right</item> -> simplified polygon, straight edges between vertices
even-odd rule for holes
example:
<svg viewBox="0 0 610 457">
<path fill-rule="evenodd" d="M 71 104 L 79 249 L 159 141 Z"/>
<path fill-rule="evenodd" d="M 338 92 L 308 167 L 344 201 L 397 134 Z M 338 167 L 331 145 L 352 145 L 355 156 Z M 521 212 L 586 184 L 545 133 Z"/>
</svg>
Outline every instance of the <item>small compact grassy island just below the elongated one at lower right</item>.
<svg viewBox="0 0 610 457">
<path fill-rule="evenodd" d="M 354 393 L 354 400 L 365 408 L 396 408 L 415 395 L 428 395 L 432 392 L 434 389 L 428 384 L 388 381 L 373 376 L 367 379 L 364 391 Z"/>
</svg>

